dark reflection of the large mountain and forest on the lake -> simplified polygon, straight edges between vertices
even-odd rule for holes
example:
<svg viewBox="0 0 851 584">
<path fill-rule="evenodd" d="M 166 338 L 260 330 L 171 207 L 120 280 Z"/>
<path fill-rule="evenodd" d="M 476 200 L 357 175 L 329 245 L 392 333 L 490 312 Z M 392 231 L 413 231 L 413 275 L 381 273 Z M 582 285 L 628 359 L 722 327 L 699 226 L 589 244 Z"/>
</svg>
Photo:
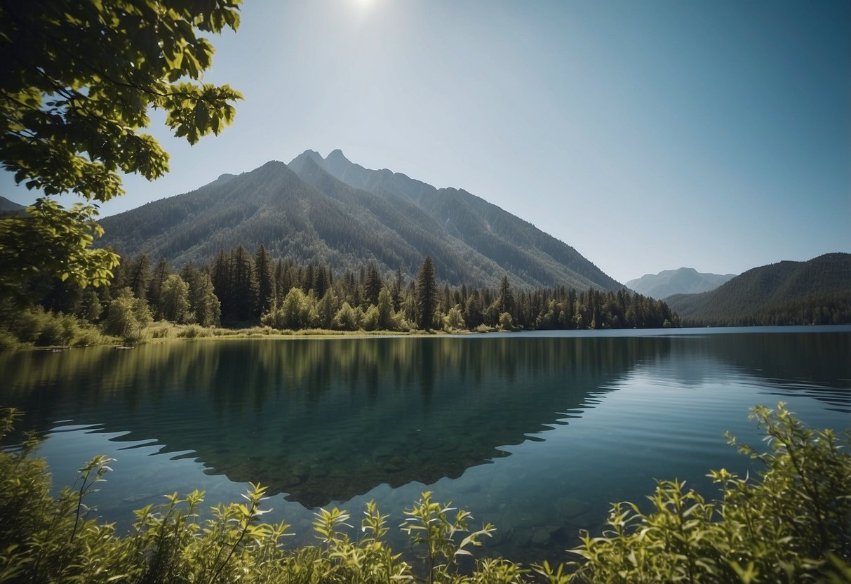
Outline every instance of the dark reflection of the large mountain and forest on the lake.
<svg viewBox="0 0 851 584">
<path fill-rule="evenodd" d="M 563 423 L 667 339 L 201 341 L 28 353 L 5 396 L 48 431 L 101 424 L 306 507 L 457 478 Z"/>
</svg>

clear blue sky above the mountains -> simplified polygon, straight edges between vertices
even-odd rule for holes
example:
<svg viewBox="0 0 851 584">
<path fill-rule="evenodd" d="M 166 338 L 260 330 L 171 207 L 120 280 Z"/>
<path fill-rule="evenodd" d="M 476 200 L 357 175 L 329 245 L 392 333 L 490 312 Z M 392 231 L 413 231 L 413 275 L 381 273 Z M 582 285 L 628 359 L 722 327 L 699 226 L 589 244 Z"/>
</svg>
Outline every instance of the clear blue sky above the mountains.
<svg viewBox="0 0 851 584">
<path fill-rule="evenodd" d="M 341 148 L 464 188 L 625 282 L 851 252 L 851 3 L 247 0 L 234 125 L 111 215 Z M 0 194 L 35 195 L 0 176 Z M 71 203 L 72 201 L 67 201 Z"/>
</svg>

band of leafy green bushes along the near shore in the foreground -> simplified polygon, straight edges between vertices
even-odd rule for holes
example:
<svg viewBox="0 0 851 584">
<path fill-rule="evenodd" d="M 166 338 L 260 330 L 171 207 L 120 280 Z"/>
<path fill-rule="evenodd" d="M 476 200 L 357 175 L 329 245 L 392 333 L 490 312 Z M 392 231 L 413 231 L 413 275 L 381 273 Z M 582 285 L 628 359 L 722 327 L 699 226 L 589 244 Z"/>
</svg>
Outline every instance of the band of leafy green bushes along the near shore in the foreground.
<svg viewBox="0 0 851 584">
<path fill-rule="evenodd" d="M 18 413 L 3 410 L 0 438 Z M 264 489 L 252 485 L 244 503 L 219 504 L 201 520 L 203 493 L 166 496 L 158 507 L 135 512 L 129 535 L 88 517 L 87 495 L 109 470 L 95 457 L 73 488 L 49 495 L 49 475 L 32 456 L 38 440 L 0 452 L 0 582 L 848 582 L 851 581 L 851 456 L 830 430 L 816 431 L 780 404 L 752 411 L 770 449 L 740 452 L 761 461 L 761 480 L 726 470 L 711 477 L 722 501 L 707 502 L 683 483 L 660 481 L 648 497 L 650 512 L 617 503 L 608 530 L 582 534 L 572 550 L 580 561 L 532 564 L 460 558 L 494 531 L 471 531 L 470 514 L 431 501 L 423 493 L 405 512 L 412 557 L 383 541 L 388 516 L 374 502 L 352 533 L 351 515 L 334 508 L 316 513 L 315 546 L 286 550 L 285 523 L 265 524 Z M 845 440 L 848 443 L 848 440 Z M 463 535 L 463 537 L 462 537 Z M 354 539 L 353 539 L 354 537 Z"/>
</svg>

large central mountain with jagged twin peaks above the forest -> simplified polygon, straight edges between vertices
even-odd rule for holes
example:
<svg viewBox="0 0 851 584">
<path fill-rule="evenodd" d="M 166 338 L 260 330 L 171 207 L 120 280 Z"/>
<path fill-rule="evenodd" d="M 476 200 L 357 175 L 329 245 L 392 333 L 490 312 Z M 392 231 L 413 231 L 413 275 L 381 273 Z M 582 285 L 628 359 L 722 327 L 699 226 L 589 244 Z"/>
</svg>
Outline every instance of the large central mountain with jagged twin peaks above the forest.
<svg viewBox="0 0 851 584">
<path fill-rule="evenodd" d="M 495 286 L 507 274 L 517 286 L 620 289 L 566 243 L 483 198 L 365 169 L 339 150 L 222 175 L 100 224 L 100 245 L 173 266 L 263 243 L 272 257 L 325 263 L 337 274 L 370 261 L 386 274 L 414 274 L 431 255 L 437 278 L 452 285 Z"/>
</svg>

